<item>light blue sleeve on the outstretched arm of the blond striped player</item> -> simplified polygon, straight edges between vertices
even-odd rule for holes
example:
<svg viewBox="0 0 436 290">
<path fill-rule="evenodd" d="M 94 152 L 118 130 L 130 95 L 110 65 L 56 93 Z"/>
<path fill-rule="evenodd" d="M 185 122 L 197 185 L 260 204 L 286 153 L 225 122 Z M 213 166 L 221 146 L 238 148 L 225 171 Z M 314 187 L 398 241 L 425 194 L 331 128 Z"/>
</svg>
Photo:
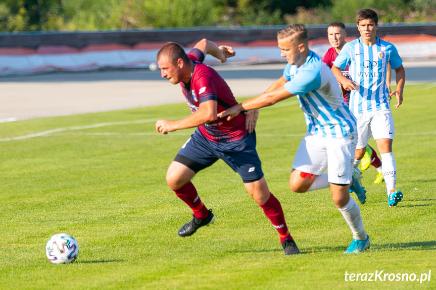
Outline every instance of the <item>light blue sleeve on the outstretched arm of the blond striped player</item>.
<svg viewBox="0 0 436 290">
<path fill-rule="evenodd" d="M 323 63 L 314 63 L 298 71 L 294 77 L 284 84 L 284 88 L 291 94 L 304 95 L 321 86 L 321 68 Z"/>
</svg>

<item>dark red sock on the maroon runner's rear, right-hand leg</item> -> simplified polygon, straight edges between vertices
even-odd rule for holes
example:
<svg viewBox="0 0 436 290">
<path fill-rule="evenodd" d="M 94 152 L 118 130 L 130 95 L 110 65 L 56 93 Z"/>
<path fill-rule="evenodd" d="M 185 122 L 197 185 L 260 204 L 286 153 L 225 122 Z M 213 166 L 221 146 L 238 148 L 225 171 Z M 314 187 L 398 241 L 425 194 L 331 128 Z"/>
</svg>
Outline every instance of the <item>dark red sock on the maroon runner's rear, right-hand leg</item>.
<svg viewBox="0 0 436 290">
<path fill-rule="evenodd" d="M 272 194 L 265 204 L 259 205 L 265 215 L 269 218 L 272 225 L 277 229 L 280 236 L 280 243 L 284 240 L 293 240 L 287 229 L 286 221 L 284 220 L 283 210 L 281 209 L 280 202 Z"/>
</svg>

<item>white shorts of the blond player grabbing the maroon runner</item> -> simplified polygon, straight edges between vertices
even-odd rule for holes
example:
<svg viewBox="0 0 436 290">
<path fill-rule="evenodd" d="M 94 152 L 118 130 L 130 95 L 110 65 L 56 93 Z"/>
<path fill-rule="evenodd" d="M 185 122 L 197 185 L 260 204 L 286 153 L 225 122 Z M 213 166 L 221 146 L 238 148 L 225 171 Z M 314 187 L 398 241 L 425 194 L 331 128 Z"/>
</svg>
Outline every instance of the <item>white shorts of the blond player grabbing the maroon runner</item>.
<svg viewBox="0 0 436 290">
<path fill-rule="evenodd" d="M 349 184 L 356 143 L 355 133 L 344 138 L 324 138 L 306 133 L 292 168 L 313 175 L 321 175 L 327 169 L 329 183 Z"/>
</svg>

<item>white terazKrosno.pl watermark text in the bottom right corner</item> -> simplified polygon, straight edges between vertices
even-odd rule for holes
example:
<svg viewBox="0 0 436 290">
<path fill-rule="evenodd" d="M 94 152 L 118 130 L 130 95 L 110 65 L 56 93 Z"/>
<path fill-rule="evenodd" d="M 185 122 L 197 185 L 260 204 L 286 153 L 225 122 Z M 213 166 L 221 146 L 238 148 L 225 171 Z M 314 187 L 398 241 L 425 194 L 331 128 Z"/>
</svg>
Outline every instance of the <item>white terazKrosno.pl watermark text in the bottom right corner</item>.
<svg viewBox="0 0 436 290">
<path fill-rule="evenodd" d="M 406 281 L 419 281 L 429 282 L 431 276 L 431 270 L 428 270 L 428 273 L 387 273 L 384 270 L 378 271 L 376 270 L 373 273 L 349 273 L 345 272 L 345 280 L 351 282 L 364 281 L 364 282 L 385 282 L 385 281 L 397 281 L 397 282 L 406 282 Z"/>
</svg>

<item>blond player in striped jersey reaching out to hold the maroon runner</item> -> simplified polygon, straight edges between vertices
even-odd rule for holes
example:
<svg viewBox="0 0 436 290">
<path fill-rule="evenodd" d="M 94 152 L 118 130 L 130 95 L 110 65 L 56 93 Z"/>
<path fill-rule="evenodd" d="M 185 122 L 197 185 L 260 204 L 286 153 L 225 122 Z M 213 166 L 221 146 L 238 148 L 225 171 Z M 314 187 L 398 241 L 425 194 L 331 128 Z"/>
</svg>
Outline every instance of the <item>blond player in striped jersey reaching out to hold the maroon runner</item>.
<svg viewBox="0 0 436 290">
<path fill-rule="evenodd" d="M 359 199 L 365 192 L 353 179 L 353 155 L 357 142 L 356 119 L 342 97 L 330 69 L 309 50 L 308 35 L 303 24 L 286 26 L 277 33 L 278 47 L 287 65 L 283 76 L 263 94 L 235 105 L 218 114 L 231 120 L 244 110 L 272 105 L 297 96 L 304 112 L 307 133 L 298 148 L 289 188 L 307 192 L 330 187 L 334 204 L 341 211 L 353 233 L 353 241 L 345 253 L 360 253 L 369 248 L 369 236 L 363 228 L 360 209 L 350 198 L 353 180 Z M 323 173 L 328 168 L 328 173 Z"/>
</svg>

